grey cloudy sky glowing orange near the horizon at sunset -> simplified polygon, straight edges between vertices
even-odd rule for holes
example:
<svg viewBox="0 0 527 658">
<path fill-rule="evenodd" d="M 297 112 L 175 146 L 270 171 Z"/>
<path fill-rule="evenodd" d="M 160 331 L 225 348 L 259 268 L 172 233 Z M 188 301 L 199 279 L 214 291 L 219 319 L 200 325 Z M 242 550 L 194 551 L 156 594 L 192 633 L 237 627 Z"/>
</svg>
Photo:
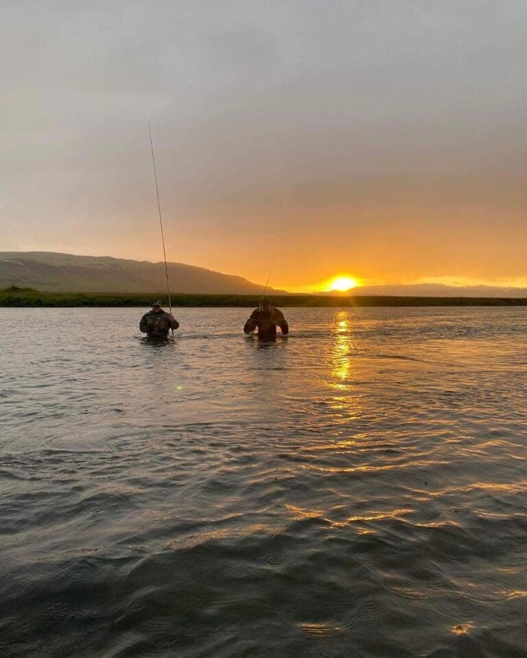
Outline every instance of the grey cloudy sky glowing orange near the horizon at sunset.
<svg viewBox="0 0 527 658">
<path fill-rule="evenodd" d="M 527 284 L 524 0 L 3 0 L 0 250 Z"/>
</svg>

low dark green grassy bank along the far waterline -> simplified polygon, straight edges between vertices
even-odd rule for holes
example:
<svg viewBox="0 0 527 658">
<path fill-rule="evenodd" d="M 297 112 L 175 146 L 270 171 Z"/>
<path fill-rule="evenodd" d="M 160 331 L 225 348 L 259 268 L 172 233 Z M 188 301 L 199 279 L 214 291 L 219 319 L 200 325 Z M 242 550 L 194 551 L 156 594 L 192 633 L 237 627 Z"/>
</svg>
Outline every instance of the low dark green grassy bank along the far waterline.
<svg viewBox="0 0 527 658">
<path fill-rule="evenodd" d="M 167 306 L 167 295 L 160 293 L 45 293 L 12 286 L 0 290 L 0 306 L 142 306 L 159 298 Z M 259 295 L 192 295 L 174 293 L 172 306 L 258 306 Z M 336 295 L 272 295 L 275 306 L 527 306 L 527 298 L 508 297 L 362 297 Z"/>
</svg>

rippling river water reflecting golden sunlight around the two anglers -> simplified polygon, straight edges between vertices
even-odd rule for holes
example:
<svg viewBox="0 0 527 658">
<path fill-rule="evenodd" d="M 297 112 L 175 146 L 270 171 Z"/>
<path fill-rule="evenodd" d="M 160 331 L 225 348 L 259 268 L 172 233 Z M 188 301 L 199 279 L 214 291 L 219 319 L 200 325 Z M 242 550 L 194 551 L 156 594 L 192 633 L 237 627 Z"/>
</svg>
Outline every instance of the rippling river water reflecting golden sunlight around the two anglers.
<svg viewBox="0 0 527 658">
<path fill-rule="evenodd" d="M 3 658 L 526 657 L 527 308 L 284 310 L 0 309 Z"/>
</svg>

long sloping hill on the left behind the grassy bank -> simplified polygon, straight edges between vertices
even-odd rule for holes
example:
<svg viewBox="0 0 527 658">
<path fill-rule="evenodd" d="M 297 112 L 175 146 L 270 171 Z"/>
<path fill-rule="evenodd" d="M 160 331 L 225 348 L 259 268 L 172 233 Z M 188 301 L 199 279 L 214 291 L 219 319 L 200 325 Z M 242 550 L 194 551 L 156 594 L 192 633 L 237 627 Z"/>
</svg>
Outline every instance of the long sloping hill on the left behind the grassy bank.
<svg viewBox="0 0 527 658">
<path fill-rule="evenodd" d="M 241 276 L 204 267 L 168 263 L 174 293 L 260 294 L 263 286 Z M 74 256 L 56 252 L 0 252 L 0 289 L 30 287 L 47 292 L 163 293 L 164 263 L 111 256 Z M 279 293 L 268 288 L 270 293 Z"/>
</svg>

